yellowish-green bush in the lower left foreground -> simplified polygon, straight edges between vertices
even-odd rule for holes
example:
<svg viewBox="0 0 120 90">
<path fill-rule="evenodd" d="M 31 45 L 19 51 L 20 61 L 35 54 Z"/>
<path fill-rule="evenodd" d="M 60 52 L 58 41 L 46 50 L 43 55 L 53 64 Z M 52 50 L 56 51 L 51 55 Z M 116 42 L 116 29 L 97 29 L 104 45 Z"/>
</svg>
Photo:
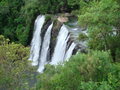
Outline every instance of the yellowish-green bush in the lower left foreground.
<svg viewBox="0 0 120 90">
<path fill-rule="evenodd" d="M 3 42 L 3 44 L 1 44 Z M 8 44 L 0 36 L 0 89 L 23 90 L 33 77 L 34 68 L 28 62 L 29 48 L 21 44 Z"/>
</svg>

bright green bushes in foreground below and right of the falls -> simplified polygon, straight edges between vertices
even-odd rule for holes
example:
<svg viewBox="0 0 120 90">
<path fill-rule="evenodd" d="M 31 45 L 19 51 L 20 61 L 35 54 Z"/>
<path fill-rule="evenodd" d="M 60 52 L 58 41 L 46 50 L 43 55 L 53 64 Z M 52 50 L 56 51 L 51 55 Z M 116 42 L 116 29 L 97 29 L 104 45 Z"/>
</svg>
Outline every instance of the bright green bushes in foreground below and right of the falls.
<svg viewBox="0 0 120 90">
<path fill-rule="evenodd" d="M 108 52 L 77 54 L 64 65 L 47 66 L 37 90 L 119 90 L 120 67 Z"/>
</svg>

